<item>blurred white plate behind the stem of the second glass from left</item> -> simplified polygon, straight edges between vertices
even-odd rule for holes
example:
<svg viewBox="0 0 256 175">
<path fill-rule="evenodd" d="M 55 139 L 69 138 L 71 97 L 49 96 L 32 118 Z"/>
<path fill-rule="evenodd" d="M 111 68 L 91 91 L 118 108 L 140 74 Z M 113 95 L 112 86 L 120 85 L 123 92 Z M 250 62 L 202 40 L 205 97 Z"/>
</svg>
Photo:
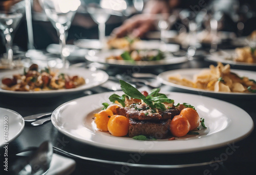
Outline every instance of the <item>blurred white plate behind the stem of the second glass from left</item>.
<svg viewBox="0 0 256 175">
<path fill-rule="evenodd" d="M 87 49 L 79 49 L 77 46 L 74 45 L 66 45 L 66 48 L 69 49 L 70 55 L 69 56 L 81 56 L 83 57 L 88 53 Z M 60 54 L 61 46 L 57 44 L 51 44 L 47 46 L 46 51 L 52 54 Z"/>
</svg>

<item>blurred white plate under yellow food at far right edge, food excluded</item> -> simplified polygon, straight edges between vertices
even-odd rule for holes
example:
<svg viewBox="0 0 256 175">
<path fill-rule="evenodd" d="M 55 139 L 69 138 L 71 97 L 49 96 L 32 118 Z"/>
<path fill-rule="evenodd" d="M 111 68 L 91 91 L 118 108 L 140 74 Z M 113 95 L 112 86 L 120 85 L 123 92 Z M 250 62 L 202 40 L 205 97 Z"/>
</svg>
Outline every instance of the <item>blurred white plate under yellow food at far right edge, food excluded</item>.
<svg viewBox="0 0 256 175">
<path fill-rule="evenodd" d="M 234 61 L 233 60 L 234 56 L 235 56 L 234 50 L 222 50 L 222 51 L 211 53 L 205 59 L 208 61 L 222 62 L 225 64 L 231 64 L 231 65 L 242 65 L 242 66 L 246 66 L 246 67 L 256 67 L 256 63 Z"/>
</svg>

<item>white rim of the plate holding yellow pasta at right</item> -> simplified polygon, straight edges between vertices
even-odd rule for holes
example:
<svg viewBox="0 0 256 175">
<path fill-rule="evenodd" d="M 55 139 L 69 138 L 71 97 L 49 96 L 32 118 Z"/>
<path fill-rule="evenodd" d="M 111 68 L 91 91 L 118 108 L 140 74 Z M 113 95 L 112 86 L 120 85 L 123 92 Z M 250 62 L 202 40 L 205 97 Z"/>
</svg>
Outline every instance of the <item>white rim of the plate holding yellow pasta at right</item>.
<svg viewBox="0 0 256 175">
<path fill-rule="evenodd" d="M 236 92 L 230 92 L 230 93 L 227 93 L 227 92 L 214 92 L 214 91 L 209 91 L 209 90 L 201 90 L 201 89 L 197 89 L 197 88 L 190 88 L 190 87 L 187 87 L 187 86 L 184 86 L 184 85 L 180 85 L 180 84 L 175 84 L 175 83 L 172 83 L 172 82 L 169 82 L 165 79 L 163 79 L 163 76 L 165 74 L 168 74 L 170 72 L 186 72 L 186 71 L 202 71 L 202 70 L 207 70 L 209 68 L 187 68 L 187 69 L 179 69 L 179 70 L 169 70 L 169 71 L 165 71 L 165 72 L 162 72 L 160 74 L 157 75 L 157 79 L 160 80 L 163 84 L 165 85 L 169 85 L 169 86 L 173 86 L 174 88 L 179 88 L 179 89 L 182 89 L 182 90 L 188 90 L 188 91 L 193 91 L 193 92 L 202 92 L 202 93 L 206 93 L 206 94 L 215 94 L 215 95 L 228 95 L 228 96 L 256 96 L 256 93 L 236 93 Z M 236 72 L 249 72 L 249 73 L 254 73 L 253 71 L 246 71 L 246 70 L 234 70 L 234 69 L 230 69 L 230 71 L 236 73 Z"/>
</svg>

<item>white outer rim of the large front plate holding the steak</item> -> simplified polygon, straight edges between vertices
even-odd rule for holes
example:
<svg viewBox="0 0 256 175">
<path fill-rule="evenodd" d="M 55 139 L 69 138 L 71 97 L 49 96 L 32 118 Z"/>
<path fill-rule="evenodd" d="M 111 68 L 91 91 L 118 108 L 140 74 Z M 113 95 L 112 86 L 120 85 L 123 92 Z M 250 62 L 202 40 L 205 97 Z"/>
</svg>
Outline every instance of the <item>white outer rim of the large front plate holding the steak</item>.
<svg viewBox="0 0 256 175">
<path fill-rule="evenodd" d="M 122 91 L 118 91 L 120 93 L 123 93 Z M 188 96 L 195 96 L 195 97 L 198 97 L 200 95 L 195 95 L 195 94 L 187 94 L 187 93 L 177 93 L 177 92 L 163 92 L 163 93 L 168 93 L 168 94 L 176 94 L 176 95 L 188 95 Z M 110 94 L 110 92 L 105 92 L 105 93 L 99 93 L 99 94 L 93 94 L 93 95 L 90 95 L 90 96 L 100 96 L 100 95 L 104 95 L 104 94 Z M 60 110 L 61 107 L 67 105 L 68 103 L 71 103 L 73 101 L 76 101 L 76 100 L 81 100 L 83 98 L 88 98 L 89 96 L 85 96 L 85 97 L 80 97 L 80 98 L 77 98 L 77 99 L 74 99 L 74 100 L 71 100 L 71 101 L 68 101 L 66 103 L 63 103 L 61 104 L 60 106 L 58 106 L 54 112 L 52 113 L 52 116 L 51 116 L 51 121 L 54 125 L 55 128 L 57 128 L 57 130 L 76 140 L 76 141 L 79 141 L 81 143 L 84 143 L 84 144 L 89 144 L 89 145 L 92 145 L 92 146 L 96 146 L 96 147 L 100 147 L 100 148 L 104 148 L 104 149 L 111 149 L 111 150 L 115 150 L 115 151 L 124 151 L 124 152 L 137 152 L 139 150 L 134 150 L 134 149 L 130 149 L 130 150 L 127 150 L 127 149 L 124 149 L 124 148 L 121 148 L 120 147 L 116 147 L 115 145 L 112 146 L 112 147 L 106 147 L 105 145 L 99 145 L 98 142 L 95 142 L 95 141 L 88 141 L 88 140 L 83 140 L 83 139 L 80 139 L 80 138 L 77 138 L 77 137 L 74 137 L 72 134 L 70 134 L 69 132 L 65 131 L 65 130 L 62 130 L 60 126 L 57 125 L 57 122 L 56 122 L 56 116 L 55 114 L 58 112 L 58 110 Z M 248 130 L 247 133 L 243 133 L 243 135 L 241 135 L 240 137 L 237 137 L 235 139 L 232 139 L 232 140 L 229 140 L 227 142 L 223 142 L 223 143 L 219 143 L 219 144 L 215 144 L 215 145 L 209 145 L 209 146 L 206 146 L 206 147 L 195 147 L 195 148 L 187 148 L 187 149 L 184 149 L 184 150 L 180 150 L 180 151 L 177 151 L 177 150 L 169 150 L 169 151 L 166 151 L 166 150 L 147 150 L 147 154 L 162 154 L 162 153 L 168 153 L 168 154 L 179 154 L 179 153 L 186 153 L 186 152 L 193 152 L 193 151 L 201 151 L 201 150 L 209 150 L 209 149 L 214 149 L 214 148 L 219 148 L 219 147 L 222 147 L 224 145 L 227 145 L 229 143 L 233 143 L 233 142 L 237 142 L 239 140 L 242 140 L 246 137 L 248 137 L 250 135 L 250 133 L 252 132 L 253 128 L 254 128 L 254 123 L 253 123 L 253 120 L 252 118 L 250 117 L 250 115 L 244 111 L 241 107 L 237 106 L 237 105 L 234 105 L 232 103 L 229 103 L 229 102 L 226 102 L 226 101 L 223 101 L 223 100 L 219 100 L 219 99 L 215 99 L 215 98 L 211 98 L 211 97 L 205 97 L 205 96 L 201 96 L 202 98 L 204 99 L 210 99 L 210 100 L 214 100 L 214 101 L 221 101 L 222 103 L 225 103 L 225 104 L 228 104 L 230 106 L 233 107 L 236 107 L 237 109 L 240 110 L 240 112 L 244 113 L 247 115 L 247 119 L 250 120 L 250 123 L 252 123 L 250 129 Z M 229 118 L 230 119 L 230 118 Z M 225 130 L 225 129 L 224 129 Z M 210 135 L 212 136 L 212 135 Z"/>
</svg>

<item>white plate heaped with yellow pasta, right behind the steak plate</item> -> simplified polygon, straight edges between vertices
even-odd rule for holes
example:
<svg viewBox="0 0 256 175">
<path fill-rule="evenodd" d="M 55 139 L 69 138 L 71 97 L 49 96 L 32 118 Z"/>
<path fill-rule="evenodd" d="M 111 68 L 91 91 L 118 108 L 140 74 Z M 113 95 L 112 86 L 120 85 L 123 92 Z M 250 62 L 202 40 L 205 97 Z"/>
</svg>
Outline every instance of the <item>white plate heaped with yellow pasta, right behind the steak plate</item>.
<svg viewBox="0 0 256 175">
<path fill-rule="evenodd" d="M 179 69 L 158 75 L 163 84 L 178 89 L 229 96 L 256 96 L 256 74 L 252 71 L 232 70 L 230 65 L 218 63 L 209 69 Z"/>
</svg>

